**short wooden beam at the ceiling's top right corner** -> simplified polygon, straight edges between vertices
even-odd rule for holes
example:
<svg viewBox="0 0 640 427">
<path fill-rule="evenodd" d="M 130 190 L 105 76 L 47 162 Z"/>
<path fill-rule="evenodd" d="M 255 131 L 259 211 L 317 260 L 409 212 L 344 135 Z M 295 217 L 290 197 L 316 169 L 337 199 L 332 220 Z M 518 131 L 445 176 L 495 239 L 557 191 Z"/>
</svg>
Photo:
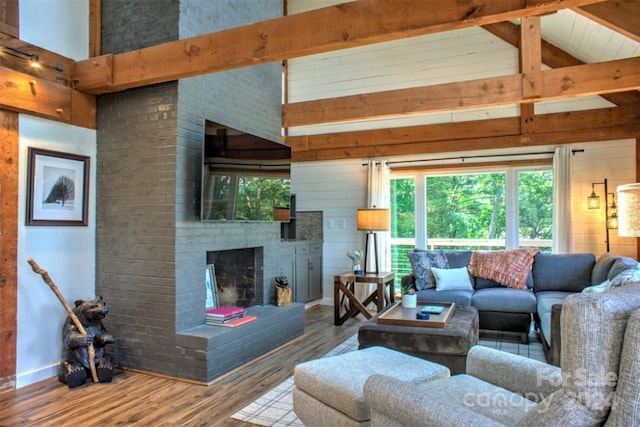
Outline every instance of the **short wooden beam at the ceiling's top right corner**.
<svg viewBox="0 0 640 427">
<path fill-rule="evenodd" d="M 640 42 L 640 1 L 610 0 L 585 5 L 575 12 Z"/>
</svg>

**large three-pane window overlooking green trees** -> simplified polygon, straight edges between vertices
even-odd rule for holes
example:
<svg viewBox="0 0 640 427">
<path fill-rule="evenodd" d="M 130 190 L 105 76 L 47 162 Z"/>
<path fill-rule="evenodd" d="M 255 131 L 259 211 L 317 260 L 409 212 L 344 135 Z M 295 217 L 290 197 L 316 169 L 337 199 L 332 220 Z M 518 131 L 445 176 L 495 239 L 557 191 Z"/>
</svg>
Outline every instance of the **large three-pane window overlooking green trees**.
<svg viewBox="0 0 640 427">
<path fill-rule="evenodd" d="M 392 269 L 411 271 L 406 253 L 428 249 L 552 246 L 550 167 L 469 173 L 394 174 L 391 179 Z"/>
</svg>

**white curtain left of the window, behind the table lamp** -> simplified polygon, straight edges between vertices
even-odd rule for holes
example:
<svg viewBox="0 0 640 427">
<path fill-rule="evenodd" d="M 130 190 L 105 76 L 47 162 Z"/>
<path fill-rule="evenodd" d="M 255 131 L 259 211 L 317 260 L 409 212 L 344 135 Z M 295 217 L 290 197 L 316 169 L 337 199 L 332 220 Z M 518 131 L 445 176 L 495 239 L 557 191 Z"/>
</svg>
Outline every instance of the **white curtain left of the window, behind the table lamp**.
<svg viewBox="0 0 640 427">
<path fill-rule="evenodd" d="M 367 184 L 367 207 L 391 208 L 391 184 L 389 163 L 386 160 L 370 160 Z M 378 239 L 378 266 L 380 271 L 391 271 L 391 233 L 376 232 Z M 375 260 L 373 261 L 375 263 Z M 375 264 L 372 264 L 375 265 Z"/>
</svg>

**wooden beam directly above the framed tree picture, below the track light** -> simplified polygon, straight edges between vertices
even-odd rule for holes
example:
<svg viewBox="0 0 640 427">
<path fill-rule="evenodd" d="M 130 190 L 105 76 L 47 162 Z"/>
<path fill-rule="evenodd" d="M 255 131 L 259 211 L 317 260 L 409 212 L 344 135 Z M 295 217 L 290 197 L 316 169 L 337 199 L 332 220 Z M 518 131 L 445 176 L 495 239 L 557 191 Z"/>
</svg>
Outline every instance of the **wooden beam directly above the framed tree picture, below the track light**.
<svg viewBox="0 0 640 427">
<path fill-rule="evenodd" d="M 0 109 L 96 128 L 95 96 L 0 67 Z"/>
</svg>

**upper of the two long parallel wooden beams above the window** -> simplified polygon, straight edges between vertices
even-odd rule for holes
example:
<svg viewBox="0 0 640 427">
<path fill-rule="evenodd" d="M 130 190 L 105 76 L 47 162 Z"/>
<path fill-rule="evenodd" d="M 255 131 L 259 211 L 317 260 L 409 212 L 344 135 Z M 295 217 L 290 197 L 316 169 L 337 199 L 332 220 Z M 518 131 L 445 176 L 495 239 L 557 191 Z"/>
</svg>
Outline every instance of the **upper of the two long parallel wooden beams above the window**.
<svg viewBox="0 0 640 427">
<path fill-rule="evenodd" d="M 542 71 L 538 101 L 640 88 L 640 57 Z M 283 105 L 283 127 L 519 104 L 522 75 L 490 77 Z"/>
</svg>

